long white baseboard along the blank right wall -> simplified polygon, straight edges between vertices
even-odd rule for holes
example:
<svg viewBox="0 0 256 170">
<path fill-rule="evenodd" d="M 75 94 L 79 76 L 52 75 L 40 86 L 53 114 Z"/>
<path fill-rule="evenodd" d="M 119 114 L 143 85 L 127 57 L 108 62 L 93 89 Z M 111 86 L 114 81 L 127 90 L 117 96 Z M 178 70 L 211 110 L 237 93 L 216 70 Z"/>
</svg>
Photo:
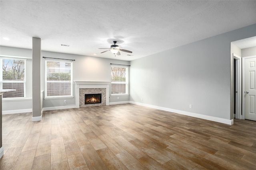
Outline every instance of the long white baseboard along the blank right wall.
<svg viewBox="0 0 256 170">
<path fill-rule="evenodd" d="M 222 118 L 219 118 L 219 117 L 213 117 L 213 116 L 202 115 L 202 114 L 198 114 L 198 113 L 192 113 L 192 112 L 188 112 L 188 111 L 181 111 L 181 110 L 170 109 L 170 108 L 166 108 L 166 107 L 143 104 L 143 103 L 139 103 L 139 102 L 130 101 L 130 103 L 140 105 L 140 106 L 150 107 L 150 108 L 154 108 L 154 109 L 170 111 L 172 113 L 178 113 L 178 114 L 187 115 L 187 116 L 191 116 L 191 117 L 197 117 L 197 118 L 200 118 L 200 119 L 216 121 L 216 122 L 224 123 L 224 124 L 228 124 L 228 125 L 233 125 L 234 124 L 234 119 L 232 119 L 232 120 L 222 119 Z"/>
</svg>

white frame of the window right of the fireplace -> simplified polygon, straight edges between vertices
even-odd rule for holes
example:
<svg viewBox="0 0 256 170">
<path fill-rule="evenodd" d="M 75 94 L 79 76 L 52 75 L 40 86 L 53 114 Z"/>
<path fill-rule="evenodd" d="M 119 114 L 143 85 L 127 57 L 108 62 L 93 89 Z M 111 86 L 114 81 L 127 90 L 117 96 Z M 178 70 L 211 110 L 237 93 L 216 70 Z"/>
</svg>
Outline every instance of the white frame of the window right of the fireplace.
<svg viewBox="0 0 256 170">
<path fill-rule="evenodd" d="M 110 70 L 110 76 L 111 76 L 111 96 L 128 96 L 129 95 L 129 66 L 120 66 L 120 65 L 114 65 L 114 64 L 111 64 L 111 67 L 120 67 L 120 68 L 126 68 L 126 75 L 125 75 L 125 80 L 126 82 L 122 83 L 122 82 L 112 82 L 112 69 Z M 110 67 L 110 68 L 111 68 Z M 125 92 L 126 93 L 120 93 L 120 94 L 112 94 L 112 84 L 126 84 L 125 86 Z"/>
</svg>

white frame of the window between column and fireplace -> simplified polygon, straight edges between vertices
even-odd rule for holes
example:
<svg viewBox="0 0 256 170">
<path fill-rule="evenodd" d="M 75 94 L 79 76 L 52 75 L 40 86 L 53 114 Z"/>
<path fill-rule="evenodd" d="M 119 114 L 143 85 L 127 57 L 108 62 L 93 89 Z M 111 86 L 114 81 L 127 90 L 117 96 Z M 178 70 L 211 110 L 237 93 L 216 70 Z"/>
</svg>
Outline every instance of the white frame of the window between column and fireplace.
<svg viewBox="0 0 256 170">
<path fill-rule="evenodd" d="M 65 96 L 47 96 L 47 62 L 58 62 L 58 63 L 70 63 L 70 95 L 65 95 Z M 44 99 L 49 100 L 49 99 L 59 99 L 59 98 L 73 98 L 73 62 L 72 61 L 59 61 L 59 60 L 52 60 L 52 59 L 46 59 L 45 60 L 45 72 L 44 72 Z M 58 81 L 60 82 L 60 81 Z"/>
</svg>

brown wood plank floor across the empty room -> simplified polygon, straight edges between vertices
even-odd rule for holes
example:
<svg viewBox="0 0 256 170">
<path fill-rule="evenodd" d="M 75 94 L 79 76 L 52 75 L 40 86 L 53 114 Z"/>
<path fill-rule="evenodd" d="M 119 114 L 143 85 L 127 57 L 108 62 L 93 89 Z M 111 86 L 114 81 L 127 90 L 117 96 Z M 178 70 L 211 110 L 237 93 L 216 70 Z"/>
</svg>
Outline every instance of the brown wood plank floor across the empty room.
<svg viewBox="0 0 256 170">
<path fill-rule="evenodd" d="M 3 115 L 0 170 L 254 170 L 256 121 L 225 125 L 133 104 Z"/>
</svg>

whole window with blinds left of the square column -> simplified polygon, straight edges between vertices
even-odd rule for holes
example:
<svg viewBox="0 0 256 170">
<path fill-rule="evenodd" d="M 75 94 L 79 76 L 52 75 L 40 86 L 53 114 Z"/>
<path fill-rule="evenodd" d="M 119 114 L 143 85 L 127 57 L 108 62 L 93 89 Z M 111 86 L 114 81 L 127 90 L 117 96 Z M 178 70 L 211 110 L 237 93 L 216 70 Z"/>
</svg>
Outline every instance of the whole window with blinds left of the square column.
<svg viewBox="0 0 256 170">
<path fill-rule="evenodd" d="M 0 59 L 0 89 L 15 89 L 15 92 L 6 92 L 3 98 L 25 98 L 26 89 L 26 60 Z"/>
</svg>

